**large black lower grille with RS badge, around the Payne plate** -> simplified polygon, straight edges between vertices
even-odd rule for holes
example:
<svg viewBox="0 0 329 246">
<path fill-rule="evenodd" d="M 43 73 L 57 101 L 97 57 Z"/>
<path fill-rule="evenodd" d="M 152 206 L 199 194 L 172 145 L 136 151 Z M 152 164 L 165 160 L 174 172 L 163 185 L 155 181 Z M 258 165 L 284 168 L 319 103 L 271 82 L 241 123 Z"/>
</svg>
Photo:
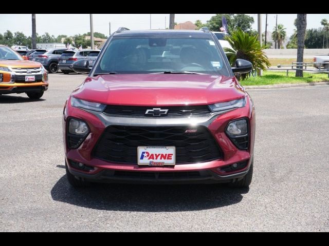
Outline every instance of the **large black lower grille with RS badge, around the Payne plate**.
<svg viewBox="0 0 329 246">
<path fill-rule="evenodd" d="M 186 133 L 186 130 L 197 130 Z M 206 127 L 107 127 L 93 156 L 111 162 L 137 163 L 138 146 L 175 146 L 176 164 L 222 159 L 223 154 Z"/>
</svg>

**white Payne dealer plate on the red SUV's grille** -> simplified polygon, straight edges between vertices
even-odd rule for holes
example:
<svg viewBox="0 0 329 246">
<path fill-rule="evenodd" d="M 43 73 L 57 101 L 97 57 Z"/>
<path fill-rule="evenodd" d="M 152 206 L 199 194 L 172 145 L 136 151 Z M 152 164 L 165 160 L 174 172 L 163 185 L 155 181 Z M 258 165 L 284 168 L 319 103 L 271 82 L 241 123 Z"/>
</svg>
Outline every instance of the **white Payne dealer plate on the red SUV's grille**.
<svg viewBox="0 0 329 246">
<path fill-rule="evenodd" d="M 175 166 L 175 146 L 137 147 L 139 166 Z"/>
</svg>

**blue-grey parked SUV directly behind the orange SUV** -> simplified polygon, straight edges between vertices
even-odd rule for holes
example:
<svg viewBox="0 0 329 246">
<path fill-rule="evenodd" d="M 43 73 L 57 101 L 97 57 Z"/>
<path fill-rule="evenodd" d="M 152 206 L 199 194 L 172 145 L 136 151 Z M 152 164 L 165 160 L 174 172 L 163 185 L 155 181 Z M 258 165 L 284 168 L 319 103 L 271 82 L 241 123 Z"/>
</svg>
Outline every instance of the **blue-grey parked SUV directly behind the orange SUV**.
<svg viewBox="0 0 329 246">
<path fill-rule="evenodd" d="M 58 58 L 66 49 L 50 49 L 43 54 L 33 53 L 32 57 L 35 61 L 39 61 L 49 73 L 58 72 Z M 39 50 L 40 51 L 40 50 Z M 42 50 L 43 51 L 43 50 Z"/>
</svg>

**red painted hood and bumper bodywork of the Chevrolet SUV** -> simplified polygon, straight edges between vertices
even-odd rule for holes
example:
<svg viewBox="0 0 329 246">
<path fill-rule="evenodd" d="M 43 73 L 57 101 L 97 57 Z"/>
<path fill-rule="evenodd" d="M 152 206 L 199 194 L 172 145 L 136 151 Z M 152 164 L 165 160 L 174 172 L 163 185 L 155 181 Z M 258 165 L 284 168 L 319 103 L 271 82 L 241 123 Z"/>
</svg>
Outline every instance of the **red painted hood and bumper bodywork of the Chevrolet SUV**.
<svg viewBox="0 0 329 246">
<path fill-rule="evenodd" d="M 176 165 L 174 167 L 138 167 L 136 165 L 122 165 L 92 158 L 92 150 L 105 126 L 93 114 L 85 110 L 72 107 L 70 98 L 74 96 L 83 100 L 108 105 L 135 106 L 180 106 L 180 105 L 208 105 L 221 101 L 246 97 L 247 103 L 243 108 L 217 116 L 209 125 L 217 144 L 224 152 L 224 159 L 210 162 Z M 104 169 L 124 171 L 172 172 L 211 169 L 218 172 L 218 168 L 243 160 L 248 165 L 236 172 L 242 172 L 250 167 L 255 131 L 255 113 L 249 95 L 235 77 L 190 74 L 122 74 L 101 75 L 87 77 L 84 84 L 77 88 L 65 104 L 63 117 L 63 137 L 66 161 L 68 159 L 83 162 L 88 166 L 97 167 L 93 174 Z M 90 133 L 78 149 L 67 148 L 66 119 L 74 117 L 87 122 Z M 250 126 L 250 144 L 248 150 L 237 149 L 225 134 L 225 128 L 232 119 L 247 117 Z M 74 169 L 68 166 L 69 169 Z M 79 170 L 76 170 L 79 171 Z M 82 171 L 80 171 L 82 172 Z"/>
</svg>

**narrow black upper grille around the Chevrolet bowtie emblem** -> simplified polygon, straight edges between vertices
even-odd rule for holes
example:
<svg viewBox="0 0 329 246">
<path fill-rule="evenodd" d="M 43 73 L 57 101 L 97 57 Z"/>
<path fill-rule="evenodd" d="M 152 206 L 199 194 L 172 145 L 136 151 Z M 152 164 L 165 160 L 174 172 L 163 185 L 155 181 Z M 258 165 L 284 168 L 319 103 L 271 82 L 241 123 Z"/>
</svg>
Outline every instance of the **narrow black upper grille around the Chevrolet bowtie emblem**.
<svg viewBox="0 0 329 246">
<path fill-rule="evenodd" d="M 152 114 L 145 114 L 148 109 L 161 108 L 168 109 L 167 114 L 161 114 L 160 116 L 153 116 Z M 112 116 L 124 116 L 124 117 L 189 117 L 189 116 L 204 116 L 210 112 L 207 105 L 198 106 L 170 106 L 170 107 L 156 107 L 156 106 L 118 106 L 107 105 L 104 113 Z"/>
</svg>

